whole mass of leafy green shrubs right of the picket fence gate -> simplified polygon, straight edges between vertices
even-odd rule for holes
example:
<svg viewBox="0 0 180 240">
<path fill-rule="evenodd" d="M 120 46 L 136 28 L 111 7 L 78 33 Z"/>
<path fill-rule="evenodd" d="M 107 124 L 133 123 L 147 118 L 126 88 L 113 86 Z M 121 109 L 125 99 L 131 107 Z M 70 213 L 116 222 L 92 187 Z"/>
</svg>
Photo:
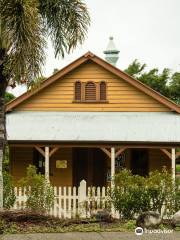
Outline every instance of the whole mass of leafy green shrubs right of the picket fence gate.
<svg viewBox="0 0 180 240">
<path fill-rule="evenodd" d="M 132 219 L 145 211 L 172 215 L 180 207 L 179 183 L 174 185 L 172 175 L 165 168 L 148 177 L 133 175 L 123 169 L 114 178 L 115 187 L 110 199 L 120 216 Z"/>
</svg>

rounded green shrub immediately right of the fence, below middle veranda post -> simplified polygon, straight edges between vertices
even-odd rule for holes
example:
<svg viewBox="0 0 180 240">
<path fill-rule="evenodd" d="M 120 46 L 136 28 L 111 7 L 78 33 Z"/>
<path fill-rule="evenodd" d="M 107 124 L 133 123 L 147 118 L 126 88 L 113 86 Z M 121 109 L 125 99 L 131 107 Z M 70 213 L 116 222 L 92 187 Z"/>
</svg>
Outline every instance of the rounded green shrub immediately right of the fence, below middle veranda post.
<svg viewBox="0 0 180 240">
<path fill-rule="evenodd" d="M 115 176 L 111 201 L 122 218 L 132 219 L 135 214 L 149 209 L 150 199 L 144 181 L 127 169 Z"/>
</svg>

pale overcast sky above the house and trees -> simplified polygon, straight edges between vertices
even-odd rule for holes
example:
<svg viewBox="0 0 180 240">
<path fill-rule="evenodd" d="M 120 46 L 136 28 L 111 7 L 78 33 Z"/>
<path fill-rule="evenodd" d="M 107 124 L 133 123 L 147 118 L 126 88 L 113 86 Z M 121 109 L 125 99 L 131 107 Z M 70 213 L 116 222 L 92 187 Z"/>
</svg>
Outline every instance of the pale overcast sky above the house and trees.
<svg viewBox="0 0 180 240">
<path fill-rule="evenodd" d="M 91 25 L 83 45 L 64 59 L 54 57 L 50 40 L 43 75 L 52 75 L 87 51 L 104 58 L 109 36 L 120 51 L 117 67 L 125 69 L 134 59 L 148 68 L 180 71 L 180 0 L 85 0 Z M 10 90 L 16 96 L 25 87 Z"/>
</svg>

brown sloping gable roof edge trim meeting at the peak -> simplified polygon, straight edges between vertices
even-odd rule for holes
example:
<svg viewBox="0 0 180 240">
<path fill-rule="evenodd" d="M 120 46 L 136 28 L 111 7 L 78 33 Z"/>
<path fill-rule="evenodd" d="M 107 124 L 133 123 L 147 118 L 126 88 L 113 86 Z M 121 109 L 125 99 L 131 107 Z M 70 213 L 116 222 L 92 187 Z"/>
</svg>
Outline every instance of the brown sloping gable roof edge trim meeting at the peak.
<svg viewBox="0 0 180 240">
<path fill-rule="evenodd" d="M 124 81 L 128 82 L 129 84 L 131 84 L 135 88 L 139 89 L 140 91 L 142 91 L 145 94 L 151 96 L 152 98 L 154 98 L 155 100 L 157 100 L 161 104 L 170 108 L 172 111 L 180 113 L 180 106 L 179 105 L 175 104 L 174 102 L 172 102 L 168 98 L 164 97 L 160 93 L 156 92 L 155 90 L 153 90 L 149 86 L 147 86 L 147 85 L 143 84 L 142 82 L 136 80 L 135 78 L 129 76 L 127 73 L 125 73 L 125 72 L 121 71 L 120 69 L 114 67 L 113 65 L 109 64 L 108 62 L 104 61 L 103 59 L 101 59 L 100 57 L 96 56 L 95 54 L 93 54 L 91 52 L 87 52 L 86 54 L 84 54 L 80 58 L 76 59 L 75 61 L 73 61 L 72 63 L 67 65 L 66 67 L 59 70 L 54 75 L 47 78 L 44 82 L 42 82 L 42 84 L 40 85 L 39 88 L 37 88 L 35 90 L 29 90 L 26 93 L 22 94 L 21 96 L 17 97 L 16 99 L 12 100 L 11 102 L 9 102 L 6 105 L 6 112 L 12 111 L 12 109 L 17 107 L 20 103 L 24 102 L 25 100 L 27 100 L 31 96 L 35 95 L 36 93 L 38 93 L 42 89 L 48 87 L 50 84 L 52 84 L 56 80 L 63 77 L 64 75 L 66 75 L 67 73 L 76 69 L 81 64 L 83 64 L 87 61 L 92 61 L 92 62 L 100 65 L 101 67 L 103 67 L 107 71 L 109 71 L 109 72 L 113 73 L 114 75 L 122 78 Z"/>
</svg>

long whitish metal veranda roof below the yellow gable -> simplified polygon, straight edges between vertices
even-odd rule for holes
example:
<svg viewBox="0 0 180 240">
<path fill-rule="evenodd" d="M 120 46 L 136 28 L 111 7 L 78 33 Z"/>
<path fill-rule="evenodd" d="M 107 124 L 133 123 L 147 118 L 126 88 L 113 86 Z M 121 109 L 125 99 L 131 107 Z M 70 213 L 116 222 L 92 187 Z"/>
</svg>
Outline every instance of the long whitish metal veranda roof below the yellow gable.
<svg viewBox="0 0 180 240">
<path fill-rule="evenodd" d="M 8 141 L 180 143 L 180 115 L 168 112 L 11 112 Z"/>
</svg>

